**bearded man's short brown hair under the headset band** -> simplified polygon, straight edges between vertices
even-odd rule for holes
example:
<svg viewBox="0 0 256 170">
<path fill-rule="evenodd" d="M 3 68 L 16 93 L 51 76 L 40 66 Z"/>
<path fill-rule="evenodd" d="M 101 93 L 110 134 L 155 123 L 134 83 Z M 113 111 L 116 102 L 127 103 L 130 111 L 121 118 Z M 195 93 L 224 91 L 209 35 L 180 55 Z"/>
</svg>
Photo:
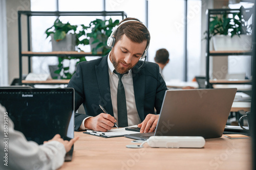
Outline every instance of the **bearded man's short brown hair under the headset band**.
<svg viewBox="0 0 256 170">
<path fill-rule="evenodd" d="M 119 25 L 123 21 L 127 20 L 137 20 L 137 21 L 130 21 L 123 23 L 118 29 L 116 30 L 114 37 L 116 39 L 116 42 L 121 39 L 121 37 L 125 34 L 131 41 L 141 43 L 144 40 L 146 40 L 146 47 L 150 43 L 150 32 L 147 30 L 146 26 L 143 25 L 142 22 L 140 22 L 139 19 L 136 18 L 125 18 L 123 19 Z M 115 42 L 115 43 L 116 43 Z"/>
</svg>

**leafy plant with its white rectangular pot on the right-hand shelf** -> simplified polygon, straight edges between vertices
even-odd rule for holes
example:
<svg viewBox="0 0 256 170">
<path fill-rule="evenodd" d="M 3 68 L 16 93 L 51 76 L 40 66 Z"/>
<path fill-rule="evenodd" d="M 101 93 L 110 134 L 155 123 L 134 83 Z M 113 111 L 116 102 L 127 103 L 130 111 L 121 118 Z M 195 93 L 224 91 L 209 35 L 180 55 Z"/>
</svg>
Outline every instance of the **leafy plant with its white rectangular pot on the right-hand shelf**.
<svg viewBox="0 0 256 170">
<path fill-rule="evenodd" d="M 250 15 L 245 15 L 243 6 L 240 12 L 210 16 L 209 38 L 212 38 L 216 51 L 251 50 L 251 29 L 248 25 Z M 205 32 L 207 34 L 207 32 Z"/>
</svg>

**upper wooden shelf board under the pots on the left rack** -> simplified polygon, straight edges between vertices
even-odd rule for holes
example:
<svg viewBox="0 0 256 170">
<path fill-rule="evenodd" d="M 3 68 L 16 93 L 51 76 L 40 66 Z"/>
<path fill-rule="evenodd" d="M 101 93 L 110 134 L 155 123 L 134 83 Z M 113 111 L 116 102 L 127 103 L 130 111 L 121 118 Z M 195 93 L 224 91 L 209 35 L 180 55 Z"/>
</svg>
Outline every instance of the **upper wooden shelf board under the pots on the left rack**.
<svg viewBox="0 0 256 170">
<path fill-rule="evenodd" d="M 92 53 L 86 52 L 76 52 L 76 51 L 68 51 L 68 52 L 22 52 L 22 56 L 57 56 L 57 57 L 67 57 L 67 56 L 77 56 L 77 57 L 84 57 L 84 56 L 101 56 L 102 53 L 97 53 L 97 55 Z"/>
</svg>

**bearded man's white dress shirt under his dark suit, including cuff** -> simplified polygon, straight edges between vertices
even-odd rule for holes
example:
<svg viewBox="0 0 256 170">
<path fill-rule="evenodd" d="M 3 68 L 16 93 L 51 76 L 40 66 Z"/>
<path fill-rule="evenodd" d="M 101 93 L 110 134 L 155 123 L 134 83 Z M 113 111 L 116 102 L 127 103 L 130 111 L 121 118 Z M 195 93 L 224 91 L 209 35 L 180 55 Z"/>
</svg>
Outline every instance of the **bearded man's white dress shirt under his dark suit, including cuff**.
<svg viewBox="0 0 256 170">
<path fill-rule="evenodd" d="M 117 86 L 118 86 L 118 76 L 114 73 L 114 65 L 110 61 L 110 53 L 108 56 L 108 65 L 109 65 L 109 80 L 110 80 L 110 92 L 111 92 L 111 100 L 113 106 L 114 117 L 117 120 L 116 124 L 118 125 L 118 114 L 117 114 Z M 141 123 L 134 96 L 134 87 L 133 87 L 133 73 L 132 70 L 129 70 L 129 73 L 122 77 L 122 83 L 125 91 L 126 98 L 126 108 L 127 108 L 127 119 L 128 126 L 138 125 Z M 90 116 L 92 117 L 92 116 Z M 89 118 L 89 117 L 87 117 Z M 84 121 L 87 119 L 84 118 L 80 129 L 85 130 Z"/>
</svg>

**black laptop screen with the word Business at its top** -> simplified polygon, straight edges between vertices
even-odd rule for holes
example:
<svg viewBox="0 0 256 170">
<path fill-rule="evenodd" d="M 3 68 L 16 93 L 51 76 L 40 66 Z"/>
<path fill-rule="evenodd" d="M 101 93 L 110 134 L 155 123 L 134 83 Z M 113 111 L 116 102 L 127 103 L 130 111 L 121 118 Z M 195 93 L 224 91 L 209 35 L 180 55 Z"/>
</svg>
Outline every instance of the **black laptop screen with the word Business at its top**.
<svg viewBox="0 0 256 170">
<path fill-rule="evenodd" d="M 0 88 L 0 103 L 14 129 L 38 144 L 60 134 L 74 138 L 74 89 Z"/>
</svg>

